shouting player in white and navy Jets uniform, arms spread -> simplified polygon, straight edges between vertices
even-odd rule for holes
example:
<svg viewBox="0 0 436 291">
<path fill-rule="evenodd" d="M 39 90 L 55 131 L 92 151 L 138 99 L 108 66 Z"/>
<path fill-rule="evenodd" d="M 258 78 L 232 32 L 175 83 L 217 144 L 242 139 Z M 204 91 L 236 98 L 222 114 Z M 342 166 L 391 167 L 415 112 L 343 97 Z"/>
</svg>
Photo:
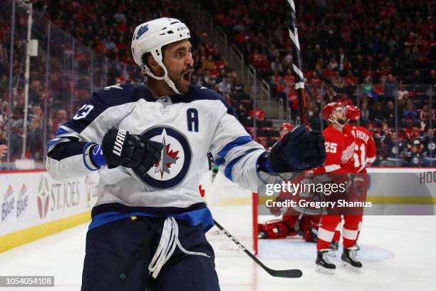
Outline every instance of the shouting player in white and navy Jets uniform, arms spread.
<svg viewBox="0 0 436 291">
<path fill-rule="evenodd" d="M 211 152 L 234 183 L 256 190 L 259 172 L 286 173 L 325 160 L 323 136 L 300 126 L 266 153 L 214 91 L 191 86 L 190 31 L 177 19 L 136 27 L 135 63 L 147 83 L 93 93 L 48 143 L 46 168 L 68 180 L 98 170 L 82 288 L 219 290 L 204 233 L 212 215 L 199 190 Z"/>
</svg>

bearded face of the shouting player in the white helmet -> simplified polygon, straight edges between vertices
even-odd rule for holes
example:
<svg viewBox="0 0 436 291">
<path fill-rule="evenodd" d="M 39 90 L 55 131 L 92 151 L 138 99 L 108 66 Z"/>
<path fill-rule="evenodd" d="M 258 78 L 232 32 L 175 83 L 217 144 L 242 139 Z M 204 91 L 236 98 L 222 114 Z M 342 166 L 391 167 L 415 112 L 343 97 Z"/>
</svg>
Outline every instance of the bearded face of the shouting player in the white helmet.
<svg viewBox="0 0 436 291">
<path fill-rule="evenodd" d="M 175 83 L 181 93 L 190 88 L 194 60 L 192 46 L 189 41 L 177 41 L 165 47 L 164 65 L 168 70 L 168 77 Z"/>
</svg>

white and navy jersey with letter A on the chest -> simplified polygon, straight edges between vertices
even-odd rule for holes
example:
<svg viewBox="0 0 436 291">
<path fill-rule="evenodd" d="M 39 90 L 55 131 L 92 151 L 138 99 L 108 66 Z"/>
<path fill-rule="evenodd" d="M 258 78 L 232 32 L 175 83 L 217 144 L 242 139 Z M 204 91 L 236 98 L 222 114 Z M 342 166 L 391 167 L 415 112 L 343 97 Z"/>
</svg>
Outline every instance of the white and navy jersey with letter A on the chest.
<svg viewBox="0 0 436 291">
<path fill-rule="evenodd" d="M 160 162 L 144 177 L 122 166 L 95 168 L 86 149 L 100 144 L 110 128 L 162 143 Z M 205 208 L 198 186 L 208 152 L 227 178 L 256 191 L 256 161 L 264 148 L 251 140 L 219 94 L 190 86 L 181 96 L 155 98 L 144 84 L 125 84 L 93 93 L 76 116 L 58 128 L 48 143 L 46 167 L 58 180 L 98 170 L 93 215 L 110 211 L 172 215 Z"/>
</svg>

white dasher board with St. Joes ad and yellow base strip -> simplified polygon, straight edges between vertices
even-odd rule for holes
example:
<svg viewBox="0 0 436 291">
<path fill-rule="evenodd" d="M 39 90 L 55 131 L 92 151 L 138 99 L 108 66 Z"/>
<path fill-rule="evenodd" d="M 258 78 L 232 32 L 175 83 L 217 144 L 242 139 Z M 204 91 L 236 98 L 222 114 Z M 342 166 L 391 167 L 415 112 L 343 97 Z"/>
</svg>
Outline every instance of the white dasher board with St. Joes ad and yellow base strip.
<svg viewBox="0 0 436 291">
<path fill-rule="evenodd" d="M 0 252 L 90 220 L 98 173 L 68 181 L 46 171 L 0 172 Z"/>
</svg>

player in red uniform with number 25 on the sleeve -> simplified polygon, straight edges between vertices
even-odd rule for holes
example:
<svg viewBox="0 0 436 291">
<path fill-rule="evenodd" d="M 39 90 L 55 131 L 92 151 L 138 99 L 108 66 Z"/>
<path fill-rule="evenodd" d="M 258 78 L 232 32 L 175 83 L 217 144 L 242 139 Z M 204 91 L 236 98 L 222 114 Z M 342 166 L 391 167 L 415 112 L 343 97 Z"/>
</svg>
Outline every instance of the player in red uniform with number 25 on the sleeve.
<svg viewBox="0 0 436 291">
<path fill-rule="evenodd" d="M 328 103 L 323 108 L 323 116 L 330 123 L 323 131 L 326 145 L 326 163 L 315 172 L 333 173 L 330 176 L 333 177 L 336 183 L 346 183 L 348 185 L 351 181 L 348 180 L 346 174 L 348 173 L 347 163 L 353 158 L 355 138 L 351 131 L 345 127 L 348 122 L 346 108 L 341 103 Z M 335 195 L 335 193 L 331 195 Z M 352 215 L 344 216 L 344 221 L 342 265 L 344 267 L 352 265 L 353 270 L 358 271 L 362 264 L 355 258 L 353 245 L 355 245 L 359 221 Z M 336 265 L 328 258 L 328 252 L 330 252 L 329 246 L 335 235 L 335 230 L 337 230 L 340 223 L 341 215 L 323 215 L 321 217 L 316 245 L 318 250 L 316 270 L 318 272 L 333 274 L 336 270 Z"/>
</svg>

